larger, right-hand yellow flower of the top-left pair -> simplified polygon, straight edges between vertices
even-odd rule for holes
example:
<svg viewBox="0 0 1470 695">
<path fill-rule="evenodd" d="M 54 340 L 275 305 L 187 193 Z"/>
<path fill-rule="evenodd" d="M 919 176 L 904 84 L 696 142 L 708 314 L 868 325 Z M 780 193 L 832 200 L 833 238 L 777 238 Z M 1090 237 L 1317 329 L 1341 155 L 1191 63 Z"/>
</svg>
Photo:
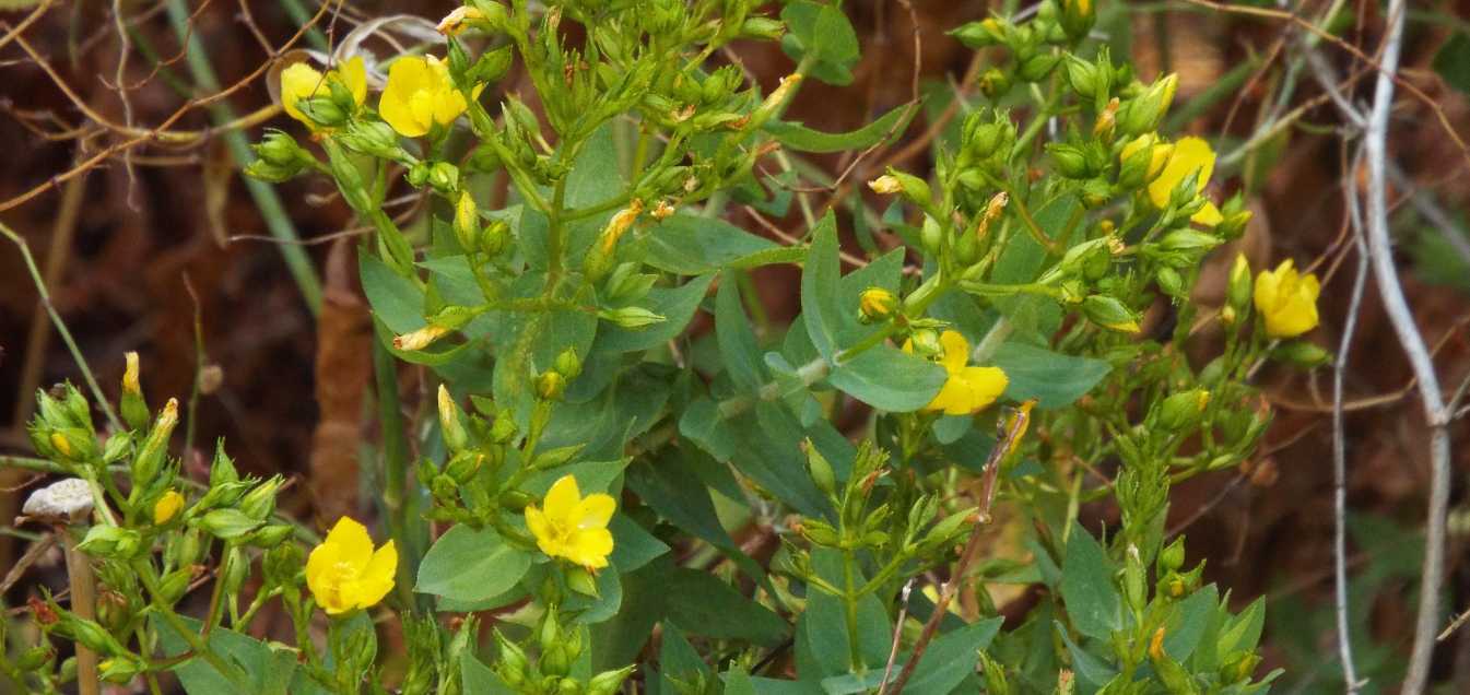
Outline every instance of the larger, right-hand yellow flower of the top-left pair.
<svg viewBox="0 0 1470 695">
<path fill-rule="evenodd" d="M 450 68 L 434 56 L 394 60 L 378 101 L 378 115 L 407 138 L 426 135 L 435 125 L 450 125 L 466 109 L 469 103 L 454 88 Z"/>
</svg>

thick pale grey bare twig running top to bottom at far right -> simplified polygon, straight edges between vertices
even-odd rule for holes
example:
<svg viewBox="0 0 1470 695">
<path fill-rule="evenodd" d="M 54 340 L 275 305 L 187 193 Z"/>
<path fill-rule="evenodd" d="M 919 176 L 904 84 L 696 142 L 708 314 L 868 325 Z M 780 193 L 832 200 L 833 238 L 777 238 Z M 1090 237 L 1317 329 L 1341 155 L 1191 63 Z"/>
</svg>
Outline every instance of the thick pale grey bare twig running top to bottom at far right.
<svg viewBox="0 0 1470 695">
<path fill-rule="evenodd" d="M 1373 90 L 1373 110 L 1369 113 L 1367 138 L 1364 141 L 1367 182 L 1367 241 L 1373 276 L 1377 281 L 1379 297 L 1388 313 L 1398 341 L 1408 354 L 1410 366 L 1419 378 L 1419 395 L 1423 400 L 1424 419 L 1430 428 L 1429 444 L 1429 510 L 1424 522 L 1424 563 L 1419 588 L 1419 616 L 1414 624 L 1414 648 L 1410 654 L 1408 671 L 1404 677 L 1405 694 L 1420 694 L 1429 682 L 1429 666 L 1435 651 L 1435 635 L 1439 627 L 1439 588 L 1445 567 L 1445 517 L 1449 508 L 1449 417 L 1445 411 L 1435 363 L 1424 345 L 1424 338 L 1414 325 L 1414 314 L 1404 298 L 1404 288 L 1394 267 L 1394 256 L 1388 229 L 1388 119 L 1394 107 L 1394 73 L 1398 71 L 1399 48 L 1404 40 L 1404 0 L 1391 0 L 1388 6 L 1388 35 L 1383 40 L 1383 57 Z"/>
</svg>

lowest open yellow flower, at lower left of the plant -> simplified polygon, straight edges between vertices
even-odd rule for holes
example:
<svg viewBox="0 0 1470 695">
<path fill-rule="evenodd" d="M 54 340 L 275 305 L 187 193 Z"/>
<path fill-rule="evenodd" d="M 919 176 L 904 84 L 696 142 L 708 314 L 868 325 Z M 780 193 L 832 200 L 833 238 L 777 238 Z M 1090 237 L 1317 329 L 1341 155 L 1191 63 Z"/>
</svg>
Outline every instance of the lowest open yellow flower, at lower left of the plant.
<svg viewBox="0 0 1470 695">
<path fill-rule="evenodd" d="M 368 529 L 344 516 L 306 558 L 306 585 L 326 614 L 337 616 L 382 601 L 397 570 L 392 541 L 373 551 Z"/>
</svg>

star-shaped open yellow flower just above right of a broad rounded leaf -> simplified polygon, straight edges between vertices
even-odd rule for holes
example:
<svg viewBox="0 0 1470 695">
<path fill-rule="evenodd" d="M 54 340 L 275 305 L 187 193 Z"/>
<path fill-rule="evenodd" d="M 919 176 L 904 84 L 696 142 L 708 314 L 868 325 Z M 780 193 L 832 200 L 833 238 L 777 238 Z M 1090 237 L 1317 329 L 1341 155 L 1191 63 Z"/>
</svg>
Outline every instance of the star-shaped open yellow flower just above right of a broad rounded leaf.
<svg viewBox="0 0 1470 695">
<path fill-rule="evenodd" d="M 544 510 L 526 507 L 526 527 L 537 536 L 541 552 L 589 570 L 607 567 L 607 554 L 613 551 L 607 522 L 617 503 L 601 492 L 582 497 L 576 478 L 567 475 L 551 485 L 544 504 Z"/>
</svg>

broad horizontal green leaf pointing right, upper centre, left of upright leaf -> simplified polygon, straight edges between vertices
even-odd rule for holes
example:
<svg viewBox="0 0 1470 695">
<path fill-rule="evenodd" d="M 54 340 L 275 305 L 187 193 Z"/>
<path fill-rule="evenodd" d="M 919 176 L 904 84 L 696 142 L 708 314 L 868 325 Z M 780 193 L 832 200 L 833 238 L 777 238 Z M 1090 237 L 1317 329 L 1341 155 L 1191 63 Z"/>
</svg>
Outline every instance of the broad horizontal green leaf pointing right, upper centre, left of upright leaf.
<svg viewBox="0 0 1470 695">
<path fill-rule="evenodd" d="M 675 215 L 650 226 L 639 242 L 645 263 L 676 275 L 709 275 L 784 248 L 722 219 L 692 215 Z"/>
</svg>

